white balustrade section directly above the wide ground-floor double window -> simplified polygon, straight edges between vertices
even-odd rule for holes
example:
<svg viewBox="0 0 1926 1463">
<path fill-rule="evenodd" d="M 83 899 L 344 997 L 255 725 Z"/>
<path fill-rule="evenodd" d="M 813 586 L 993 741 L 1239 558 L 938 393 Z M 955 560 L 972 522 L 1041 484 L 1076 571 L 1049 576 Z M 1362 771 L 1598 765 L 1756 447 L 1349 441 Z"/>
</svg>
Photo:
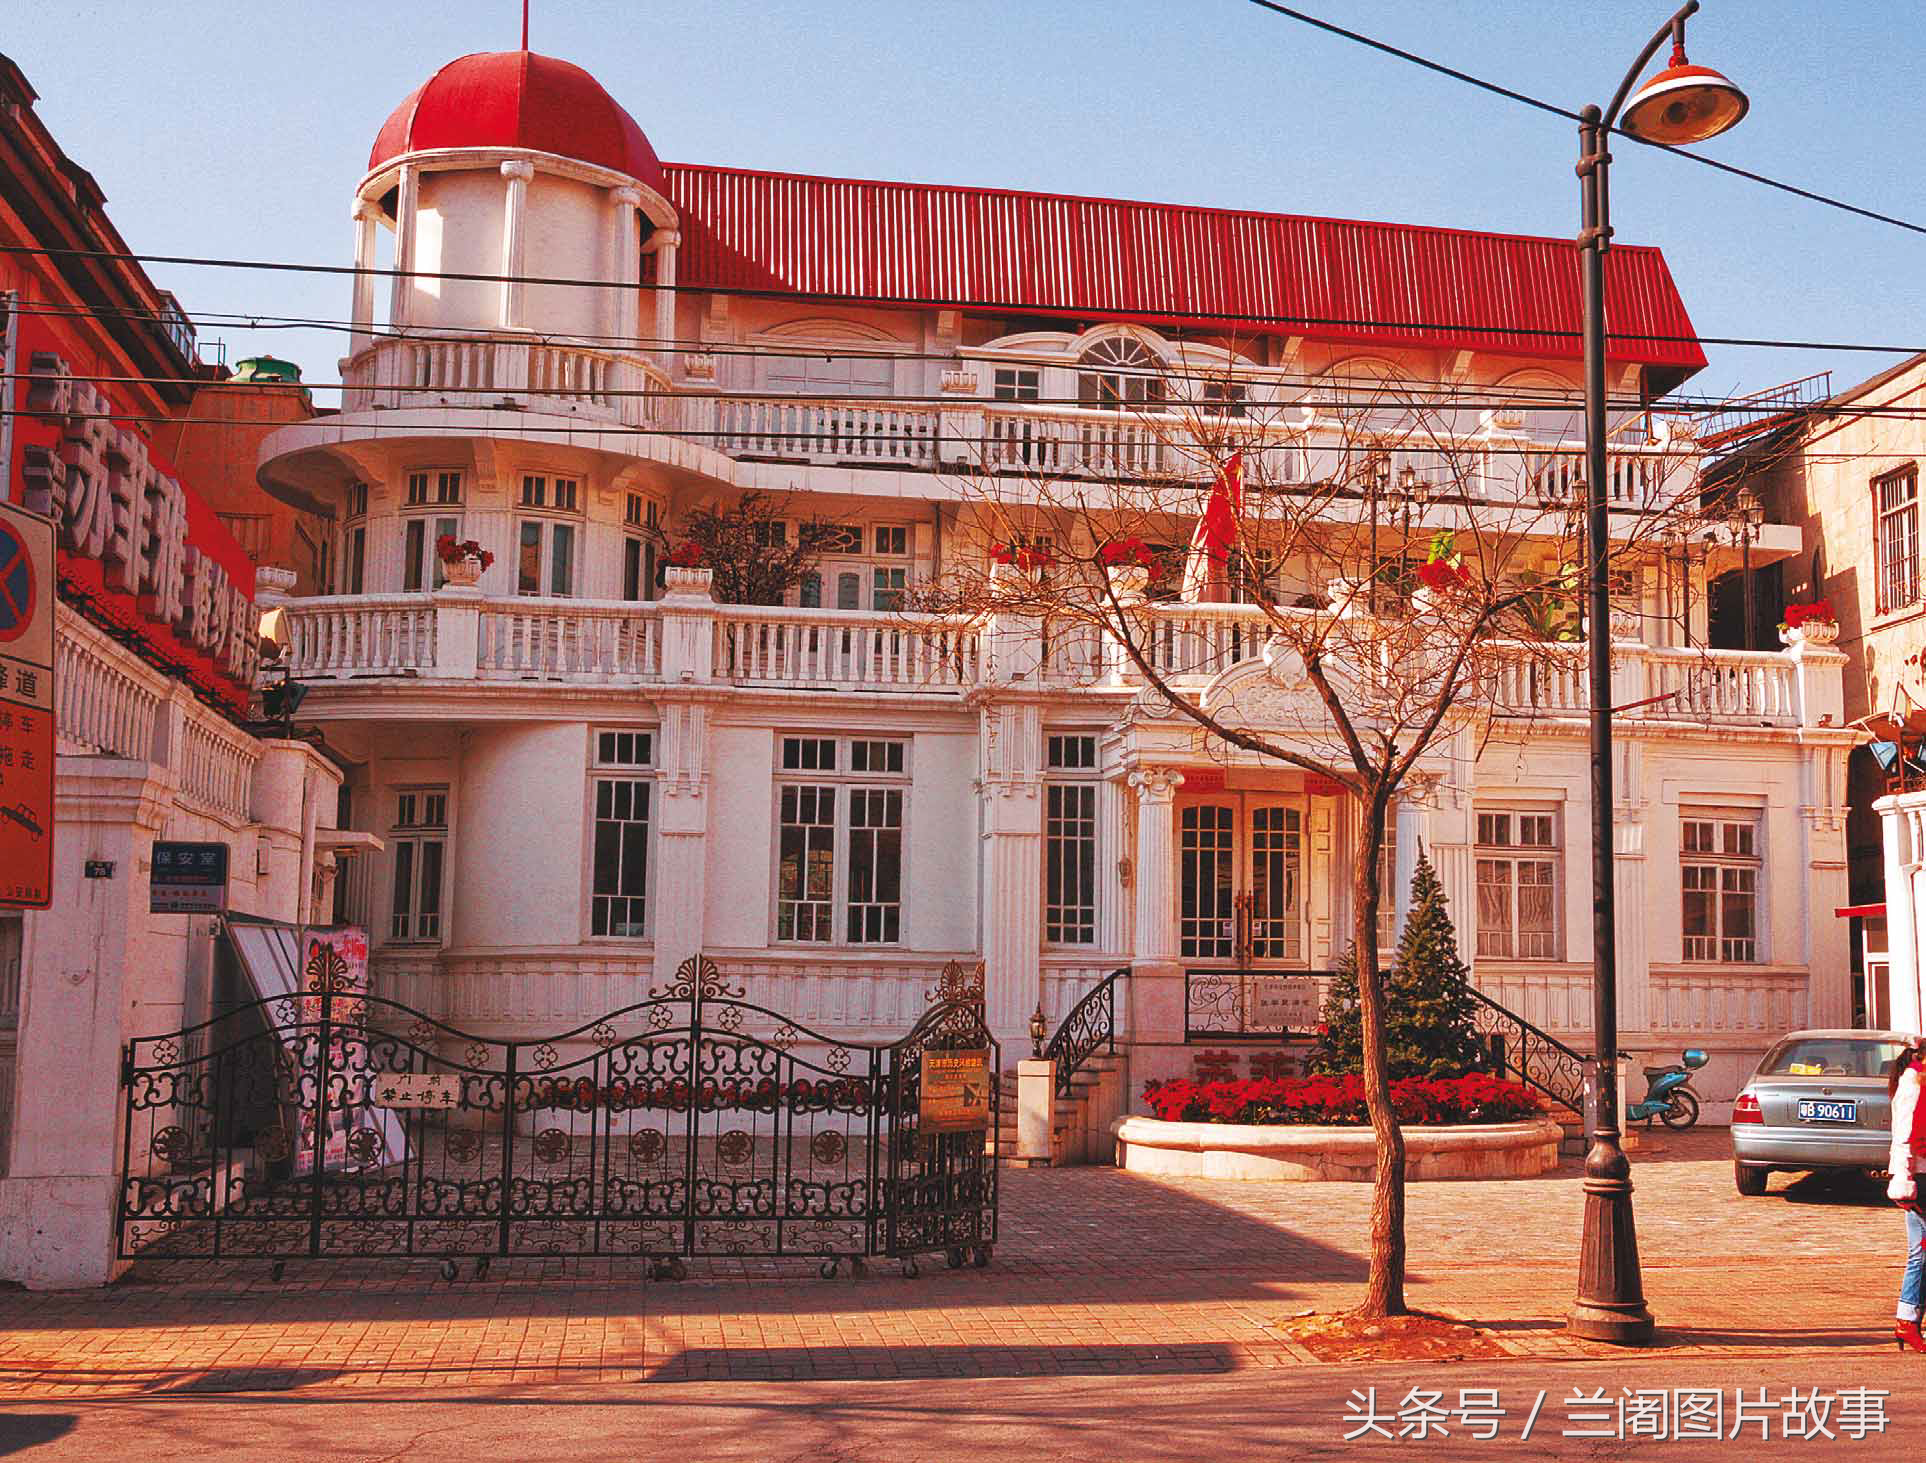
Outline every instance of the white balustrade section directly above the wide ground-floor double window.
<svg viewBox="0 0 1926 1463">
<path fill-rule="evenodd" d="M 718 604 L 715 674 L 738 685 L 932 691 L 976 683 L 978 633 L 926 614 Z"/>
</svg>

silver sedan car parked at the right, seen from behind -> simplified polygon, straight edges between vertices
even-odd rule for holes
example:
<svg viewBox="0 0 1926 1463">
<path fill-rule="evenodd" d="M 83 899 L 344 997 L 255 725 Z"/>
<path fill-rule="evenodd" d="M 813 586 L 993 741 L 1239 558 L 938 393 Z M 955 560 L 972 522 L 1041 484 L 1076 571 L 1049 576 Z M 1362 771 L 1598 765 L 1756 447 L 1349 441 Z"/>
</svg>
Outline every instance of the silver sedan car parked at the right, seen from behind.
<svg viewBox="0 0 1926 1463">
<path fill-rule="evenodd" d="M 1793 1032 L 1758 1063 L 1731 1105 L 1731 1182 L 1764 1194 L 1774 1170 L 1886 1172 L 1886 1074 L 1911 1045 L 1899 1032 Z"/>
</svg>

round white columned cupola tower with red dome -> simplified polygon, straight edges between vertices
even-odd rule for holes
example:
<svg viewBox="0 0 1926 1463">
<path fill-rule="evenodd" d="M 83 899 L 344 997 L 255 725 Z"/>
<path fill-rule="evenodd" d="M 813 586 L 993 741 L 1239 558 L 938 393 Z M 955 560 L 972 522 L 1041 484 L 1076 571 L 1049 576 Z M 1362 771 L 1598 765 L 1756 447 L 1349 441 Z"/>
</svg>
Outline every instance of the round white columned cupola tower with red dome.
<svg viewBox="0 0 1926 1463">
<path fill-rule="evenodd" d="M 636 119 L 580 65 L 528 50 L 449 62 L 383 123 L 354 194 L 354 264 L 395 231 L 387 323 L 403 333 L 666 337 L 668 289 L 638 306 L 643 252 L 674 287 L 676 214 Z M 510 275 L 611 289 L 524 285 Z M 356 275 L 354 352 L 376 323 L 376 281 Z M 609 341 L 620 348 L 616 341 Z"/>
</svg>

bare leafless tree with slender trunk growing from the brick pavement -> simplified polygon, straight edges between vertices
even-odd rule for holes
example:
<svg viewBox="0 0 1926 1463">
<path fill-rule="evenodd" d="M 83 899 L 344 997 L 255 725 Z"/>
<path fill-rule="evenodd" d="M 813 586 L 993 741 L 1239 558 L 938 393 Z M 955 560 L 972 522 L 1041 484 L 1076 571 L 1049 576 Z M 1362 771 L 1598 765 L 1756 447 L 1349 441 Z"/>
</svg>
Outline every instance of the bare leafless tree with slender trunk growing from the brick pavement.
<svg viewBox="0 0 1926 1463">
<path fill-rule="evenodd" d="M 1034 622 L 1040 680 L 1140 683 L 1208 751 L 1350 791 L 1350 941 L 1377 1140 L 1362 1313 L 1396 1315 L 1404 1134 L 1377 945 L 1387 824 L 1446 749 L 1475 758 L 1493 720 L 1529 714 L 1545 687 L 1583 695 L 1583 458 L 1491 412 L 1489 391 L 1456 406 L 1443 389 L 1352 377 L 1308 408 L 1263 408 L 1229 377 L 1217 391 L 1198 381 L 1165 379 L 1144 393 L 1148 410 L 1065 412 L 1054 437 L 986 433 L 978 472 L 961 479 L 959 529 L 978 552 L 959 552 L 917 604 Z M 1572 398 L 1527 406 L 1570 414 Z M 1647 562 L 1699 512 L 1689 450 L 1616 458 L 1616 566 Z M 1215 520 L 1215 551 L 1192 547 L 1200 520 Z M 1171 603 L 1186 589 L 1190 604 Z M 1233 595 L 1236 614 L 1208 603 Z"/>
</svg>

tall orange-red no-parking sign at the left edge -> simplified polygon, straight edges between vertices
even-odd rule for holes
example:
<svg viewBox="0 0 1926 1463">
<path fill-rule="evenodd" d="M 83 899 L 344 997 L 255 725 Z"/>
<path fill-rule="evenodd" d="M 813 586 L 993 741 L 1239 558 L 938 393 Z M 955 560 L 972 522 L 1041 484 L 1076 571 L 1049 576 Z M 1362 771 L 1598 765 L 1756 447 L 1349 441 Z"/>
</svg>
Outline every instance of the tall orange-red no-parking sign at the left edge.
<svg viewBox="0 0 1926 1463">
<path fill-rule="evenodd" d="M 54 903 L 54 526 L 0 502 L 0 905 Z"/>
</svg>

